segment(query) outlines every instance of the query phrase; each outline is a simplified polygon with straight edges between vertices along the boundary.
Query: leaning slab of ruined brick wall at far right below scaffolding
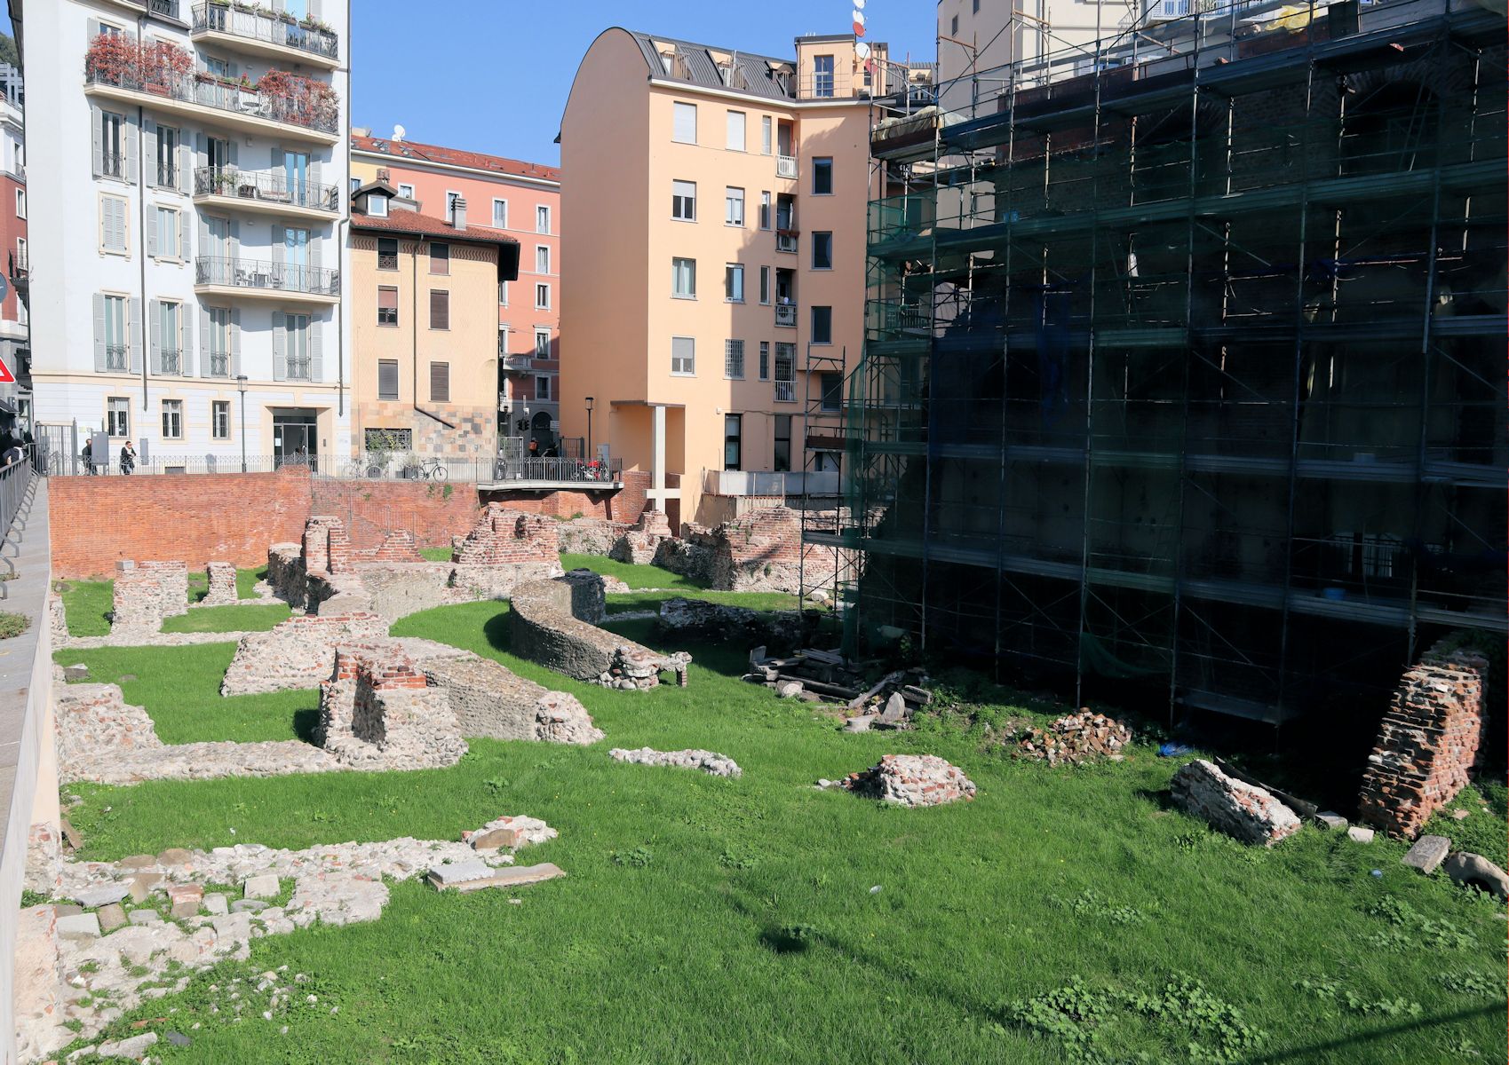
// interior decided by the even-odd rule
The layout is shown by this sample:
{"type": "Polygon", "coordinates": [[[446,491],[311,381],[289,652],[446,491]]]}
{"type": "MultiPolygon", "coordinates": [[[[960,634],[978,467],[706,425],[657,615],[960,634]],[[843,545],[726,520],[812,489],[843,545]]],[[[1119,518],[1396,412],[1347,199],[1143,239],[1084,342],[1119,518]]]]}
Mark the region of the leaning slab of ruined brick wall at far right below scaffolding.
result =
{"type": "Polygon", "coordinates": [[[1483,738],[1488,659],[1435,644],[1399,682],[1367,756],[1360,819],[1414,839],[1468,783],[1483,738]]]}

